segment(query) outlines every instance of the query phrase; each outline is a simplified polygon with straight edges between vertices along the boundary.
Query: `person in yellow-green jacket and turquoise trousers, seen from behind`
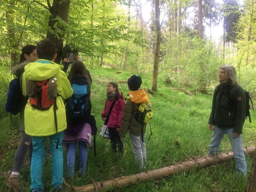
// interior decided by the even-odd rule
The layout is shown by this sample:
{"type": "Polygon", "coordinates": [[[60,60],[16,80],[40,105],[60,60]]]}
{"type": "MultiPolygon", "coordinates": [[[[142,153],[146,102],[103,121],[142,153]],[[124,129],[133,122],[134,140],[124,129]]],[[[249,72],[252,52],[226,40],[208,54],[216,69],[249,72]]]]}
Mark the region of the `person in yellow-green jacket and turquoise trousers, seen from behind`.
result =
{"type": "Polygon", "coordinates": [[[26,65],[22,84],[23,95],[29,95],[24,112],[25,132],[32,136],[33,145],[30,189],[32,192],[41,192],[46,137],[49,137],[52,155],[52,186],[60,190],[63,183],[62,137],[67,122],[62,99],[71,97],[73,90],[61,70],[62,66],[54,63],[57,56],[55,45],[49,39],[44,39],[38,42],[36,50],[39,59],[26,65]],[[42,82],[44,84],[40,85],[42,82]],[[44,97],[44,94],[50,94],[50,87],[54,85],[56,90],[52,92],[56,92],[53,94],[55,97],[49,100],[49,107],[45,108],[45,99],[50,97],[44,97]],[[35,87],[35,90],[31,88],[29,91],[30,87],[35,87]]]}

